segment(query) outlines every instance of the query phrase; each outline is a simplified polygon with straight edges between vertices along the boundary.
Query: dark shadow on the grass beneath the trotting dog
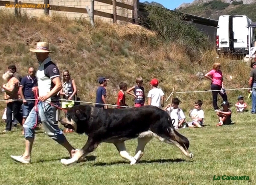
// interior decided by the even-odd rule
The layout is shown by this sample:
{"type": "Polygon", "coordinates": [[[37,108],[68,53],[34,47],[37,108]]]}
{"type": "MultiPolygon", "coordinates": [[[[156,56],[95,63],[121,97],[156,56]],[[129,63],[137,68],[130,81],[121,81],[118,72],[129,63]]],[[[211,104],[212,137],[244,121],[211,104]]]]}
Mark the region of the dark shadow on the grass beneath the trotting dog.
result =
{"type": "MultiPolygon", "coordinates": [[[[150,164],[150,163],[166,163],[166,162],[192,162],[192,161],[187,161],[184,159],[155,159],[155,160],[141,160],[138,163],[145,163],[145,164],[150,164]]],[[[92,166],[110,166],[110,165],[119,165],[119,164],[130,164],[128,161],[116,161],[116,162],[97,162],[96,164],[92,166]]]]}

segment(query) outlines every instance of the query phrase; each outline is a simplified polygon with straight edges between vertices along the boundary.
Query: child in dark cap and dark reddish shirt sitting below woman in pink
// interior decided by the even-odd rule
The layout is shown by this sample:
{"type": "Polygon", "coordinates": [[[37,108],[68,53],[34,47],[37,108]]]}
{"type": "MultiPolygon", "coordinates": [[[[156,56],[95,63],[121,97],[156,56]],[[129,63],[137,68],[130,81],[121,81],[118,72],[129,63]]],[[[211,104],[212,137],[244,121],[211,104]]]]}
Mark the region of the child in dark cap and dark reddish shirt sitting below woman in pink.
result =
{"type": "Polygon", "coordinates": [[[230,104],[227,101],[224,101],[221,106],[223,107],[223,110],[216,111],[216,114],[218,115],[219,122],[216,126],[222,126],[223,124],[231,124],[231,115],[232,112],[229,109],[230,104]]]}

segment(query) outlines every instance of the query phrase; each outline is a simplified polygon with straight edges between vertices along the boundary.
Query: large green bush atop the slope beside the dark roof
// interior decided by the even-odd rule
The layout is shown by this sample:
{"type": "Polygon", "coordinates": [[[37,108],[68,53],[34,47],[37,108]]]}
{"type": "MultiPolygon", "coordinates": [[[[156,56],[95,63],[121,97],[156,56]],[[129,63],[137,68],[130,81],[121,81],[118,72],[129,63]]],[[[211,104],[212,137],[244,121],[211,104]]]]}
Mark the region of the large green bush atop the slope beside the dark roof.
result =
{"type": "MultiPolygon", "coordinates": [[[[157,6],[145,6],[148,15],[143,19],[144,26],[156,32],[158,41],[162,43],[180,43],[189,53],[196,53],[207,46],[207,36],[192,23],[183,20],[179,12],[157,6]],[[147,25],[145,25],[145,23],[147,25]]],[[[156,44],[156,43],[154,43],[156,44]]],[[[193,56],[191,55],[193,58],[193,56]]]]}

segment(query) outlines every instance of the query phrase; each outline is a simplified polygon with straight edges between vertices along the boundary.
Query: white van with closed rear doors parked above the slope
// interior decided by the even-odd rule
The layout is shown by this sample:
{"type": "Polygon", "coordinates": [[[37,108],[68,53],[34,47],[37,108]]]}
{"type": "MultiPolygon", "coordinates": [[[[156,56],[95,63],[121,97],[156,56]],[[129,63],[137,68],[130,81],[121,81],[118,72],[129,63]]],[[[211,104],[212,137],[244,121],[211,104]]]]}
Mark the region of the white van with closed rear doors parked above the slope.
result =
{"type": "MultiPolygon", "coordinates": [[[[248,54],[248,25],[251,23],[252,21],[245,15],[221,15],[218,20],[216,34],[217,53],[248,54]]],[[[253,38],[254,36],[250,43],[254,43],[253,38]]]]}

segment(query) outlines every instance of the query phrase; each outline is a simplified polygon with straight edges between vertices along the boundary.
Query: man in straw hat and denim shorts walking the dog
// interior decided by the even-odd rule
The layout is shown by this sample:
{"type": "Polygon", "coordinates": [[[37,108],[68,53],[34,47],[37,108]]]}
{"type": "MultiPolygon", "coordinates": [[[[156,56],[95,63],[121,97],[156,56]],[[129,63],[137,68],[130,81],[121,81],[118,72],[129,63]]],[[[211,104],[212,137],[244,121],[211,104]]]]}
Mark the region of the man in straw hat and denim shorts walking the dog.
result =
{"type": "MultiPolygon", "coordinates": [[[[49,57],[49,44],[46,42],[38,42],[35,49],[29,49],[31,52],[36,53],[36,58],[39,62],[39,68],[36,73],[38,80],[38,116],[44,126],[47,135],[64,146],[70,156],[76,153],[76,149],[70,145],[64,136],[62,130],[58,127],[58,116],[56,115],[56,108],[52,107],[49,103],[60,106],[60,95],[57,93],[61,90],[61,77],[58,67],[51,61],[49,57]]],[[[35,124],[37,113],[35,107],[29,113],[23,128],[25,131],[26,148],[22,156],[11,156],[21,163],[30,163],[30,154],[32,145],[35,138],[35,124]]]]}

